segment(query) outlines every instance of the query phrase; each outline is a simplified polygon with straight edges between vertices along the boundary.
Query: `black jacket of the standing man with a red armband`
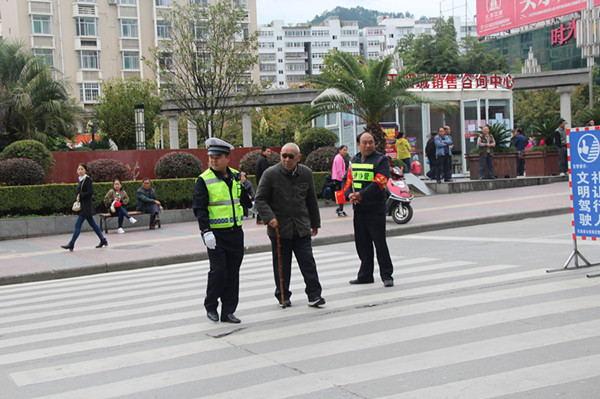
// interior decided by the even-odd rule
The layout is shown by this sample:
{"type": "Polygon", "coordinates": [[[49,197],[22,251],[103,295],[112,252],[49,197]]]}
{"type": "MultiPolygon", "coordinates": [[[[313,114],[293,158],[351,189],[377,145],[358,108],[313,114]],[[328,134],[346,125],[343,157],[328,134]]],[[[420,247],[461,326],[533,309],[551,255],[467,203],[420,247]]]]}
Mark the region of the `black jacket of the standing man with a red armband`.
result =
{"type": "MultiPolygon", "coordinates": [[[[360,152],[352,158],[352,163],[371,163],[373,164],[374,175],[381,174],[387,178],[390,177],[390,162],[388,158],[379,153],[374,152],[364,160],[360,152]]],[[[352,187],[346,191],[346,198],[352,193],[352,187]]],[[[358,213],[385,213],[386,192],[385,188],[381,189],[375,182],[371,182],[360,190],[361,202],[354,205],[354,212],[358,213]]]]}

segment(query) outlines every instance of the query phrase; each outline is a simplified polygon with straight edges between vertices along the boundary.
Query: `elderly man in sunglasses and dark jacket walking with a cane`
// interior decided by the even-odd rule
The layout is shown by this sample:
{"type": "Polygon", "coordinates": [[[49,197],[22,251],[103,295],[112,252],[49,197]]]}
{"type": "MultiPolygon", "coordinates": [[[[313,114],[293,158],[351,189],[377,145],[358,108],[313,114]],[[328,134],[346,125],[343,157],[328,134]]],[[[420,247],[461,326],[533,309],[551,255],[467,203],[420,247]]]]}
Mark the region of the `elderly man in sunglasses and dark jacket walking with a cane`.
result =
{"type": "Polygon", "coordinates": [[[268,224],[267,234],[273,251],[275,297],[282,307],[291,306],[290,274],[292,252],[306,284],[308,306],[325,304],[312,252],[311,236],[321,227],[319,205],[310,168],[298,164],[300,149],[288,143],[281,149],[281,162],[268,168],[258,185],[255,206],[260,218],[268,224]],[[277,268],[277,241],[275,229],[281,234],[281,257],[284,277],[284,301],[281,302],[277,268]]]}

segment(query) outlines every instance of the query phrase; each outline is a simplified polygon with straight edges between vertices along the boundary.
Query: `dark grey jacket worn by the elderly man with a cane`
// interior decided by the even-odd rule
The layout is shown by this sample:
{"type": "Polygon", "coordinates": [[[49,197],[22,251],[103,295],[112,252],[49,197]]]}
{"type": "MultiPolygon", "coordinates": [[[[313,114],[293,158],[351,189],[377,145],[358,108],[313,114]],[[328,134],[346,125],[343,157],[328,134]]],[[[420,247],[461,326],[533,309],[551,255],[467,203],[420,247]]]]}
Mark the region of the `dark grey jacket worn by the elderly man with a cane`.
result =
{"type": "MultiPolygon", "coordinates": [[[[255,206],[265,223],[277,218],[285,239],[307,237],[311,228],[321,227],[312,170],[304,165],[299,164],[294,172],[280,163],[267,169],[258,185],[255,206]]],[[[267,232],[275,236],[270,227],[267,232]]]]}

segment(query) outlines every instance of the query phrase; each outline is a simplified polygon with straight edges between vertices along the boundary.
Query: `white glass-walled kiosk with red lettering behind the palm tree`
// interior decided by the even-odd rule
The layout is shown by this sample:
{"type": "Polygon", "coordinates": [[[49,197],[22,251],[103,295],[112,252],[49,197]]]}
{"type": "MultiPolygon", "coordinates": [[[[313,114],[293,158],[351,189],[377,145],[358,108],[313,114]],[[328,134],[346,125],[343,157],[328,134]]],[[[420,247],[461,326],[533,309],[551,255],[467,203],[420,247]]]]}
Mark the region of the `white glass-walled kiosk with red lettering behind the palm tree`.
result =
{"type": "MultiPolygon", "coordinates": [[[[382,124],[404,132],[413,147],[413,154],[424,165],[425,145],[432,133],[442,126],[451,129],[453,174],[465,175],[468,166],[465,154],[476,146],[477,132],[486,123],[502,123],[513,127],[512,77],[510,75],[437,75],[431,82],[410,89],[425,101],[397,107],[384,116],[382,124]]],[[[338,113],[319,117],[315,126],[325,127],[338,135],[338,144],[357,152],[355,137],[364,130],[364,123],[351,114],[338,113]]]]}

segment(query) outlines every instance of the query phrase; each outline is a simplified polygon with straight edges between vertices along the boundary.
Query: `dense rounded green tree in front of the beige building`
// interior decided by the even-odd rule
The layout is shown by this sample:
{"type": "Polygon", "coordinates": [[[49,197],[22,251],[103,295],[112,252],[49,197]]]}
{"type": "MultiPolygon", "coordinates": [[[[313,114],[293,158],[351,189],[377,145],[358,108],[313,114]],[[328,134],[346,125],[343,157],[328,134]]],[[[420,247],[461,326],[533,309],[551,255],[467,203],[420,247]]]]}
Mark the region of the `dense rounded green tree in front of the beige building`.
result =
{"type": "Polygon", "coordinates": [[[146,142],[154,134],[154,121],[162,100],[151,80],[111,79],[102,84],[102,96],[96,106],[100,130],[120,149],[135,148],[135,106],[144,104],[146,142]]]}

